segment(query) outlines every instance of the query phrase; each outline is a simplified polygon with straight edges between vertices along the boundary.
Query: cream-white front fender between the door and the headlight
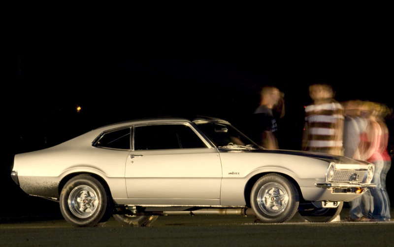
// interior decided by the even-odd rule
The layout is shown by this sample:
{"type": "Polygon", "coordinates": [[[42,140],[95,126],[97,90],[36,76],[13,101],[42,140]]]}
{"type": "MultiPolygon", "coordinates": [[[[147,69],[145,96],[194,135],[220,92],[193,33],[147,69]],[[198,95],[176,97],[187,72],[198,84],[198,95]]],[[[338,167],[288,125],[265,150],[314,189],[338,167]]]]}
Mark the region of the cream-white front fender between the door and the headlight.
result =
{"type": "Polygon", "coordinates": [[[328,161],[293,154],[263,152],[220,153],[223,179],[221,205],[246,205],[245,189],[256,175],[279,173],[292,177],[302,191],[325,181],[328,161]],[[311,167],[313,169],[311,169],[311,167]]]}

